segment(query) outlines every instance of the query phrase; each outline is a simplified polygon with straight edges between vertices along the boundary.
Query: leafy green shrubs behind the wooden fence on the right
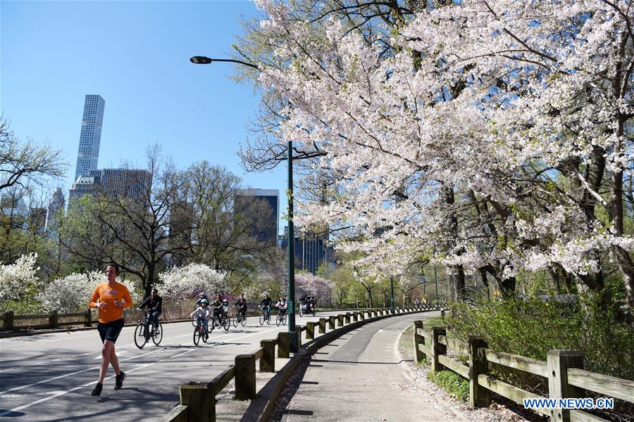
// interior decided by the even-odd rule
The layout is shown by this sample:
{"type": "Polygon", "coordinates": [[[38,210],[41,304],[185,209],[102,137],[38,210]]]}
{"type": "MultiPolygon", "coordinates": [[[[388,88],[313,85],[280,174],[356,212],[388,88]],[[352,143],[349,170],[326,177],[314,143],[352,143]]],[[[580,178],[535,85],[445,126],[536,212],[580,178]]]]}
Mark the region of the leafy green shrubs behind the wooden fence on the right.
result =
{"type": "MultiPolygon", "coordinates": [[[[539,298],[490,300],[472,298],[452,305],[447,327],[467,340],[484,337],[500,352],[546,360],[551,349],[583,352],[589,371],[634,379],[634,324],[619,316],[613,295],[581,295],[574,304],[539,298]]],[[[541,377],[491,365],[492,373],[526,390],[547,392],[541,377]]]]}

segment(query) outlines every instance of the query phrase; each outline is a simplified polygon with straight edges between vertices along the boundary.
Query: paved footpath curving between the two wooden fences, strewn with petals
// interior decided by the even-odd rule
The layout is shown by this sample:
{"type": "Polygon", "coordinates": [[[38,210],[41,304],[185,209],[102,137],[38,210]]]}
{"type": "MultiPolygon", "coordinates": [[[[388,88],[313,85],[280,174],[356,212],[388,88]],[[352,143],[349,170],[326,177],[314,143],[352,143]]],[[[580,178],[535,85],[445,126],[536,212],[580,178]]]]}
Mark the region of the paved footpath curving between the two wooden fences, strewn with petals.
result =
{"type": "Polygon", "coordinates": [[[323,347],[310,362],[300,366],[295,376],[299,388],[281,410],[281,420],[448,422],[464,419],[459,412],[430,404],[399,364],[400,333],[412,321],[435,314],[394,316],[376,321],[323,347]]]}

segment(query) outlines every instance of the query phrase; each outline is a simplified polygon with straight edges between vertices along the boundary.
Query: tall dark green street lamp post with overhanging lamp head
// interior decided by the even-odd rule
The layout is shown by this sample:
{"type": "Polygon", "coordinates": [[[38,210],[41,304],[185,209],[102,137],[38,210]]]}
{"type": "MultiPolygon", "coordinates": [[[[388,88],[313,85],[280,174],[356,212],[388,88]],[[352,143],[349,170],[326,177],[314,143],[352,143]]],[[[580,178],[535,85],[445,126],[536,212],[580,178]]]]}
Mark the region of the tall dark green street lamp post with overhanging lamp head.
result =
{"type": "MultiPolygon", "coordinates": [[[[194,56],[189,58],[189,61],[195,65],[209,65],[213,62],[230,62],[238,63],[239,65],[248,66],[260,70],[260,68],[253,63],[248,63],[242,60],[233,60],[230,58],[209,58],[206,56],[194,56]]],[[[299,338],[298,333],[295,331],[295,265],[294,265],[294,231],[293,231],[293,154],[292,141],[288,141],[288,337],[289,347],[291,352],[299,352],[299,338]]]]}

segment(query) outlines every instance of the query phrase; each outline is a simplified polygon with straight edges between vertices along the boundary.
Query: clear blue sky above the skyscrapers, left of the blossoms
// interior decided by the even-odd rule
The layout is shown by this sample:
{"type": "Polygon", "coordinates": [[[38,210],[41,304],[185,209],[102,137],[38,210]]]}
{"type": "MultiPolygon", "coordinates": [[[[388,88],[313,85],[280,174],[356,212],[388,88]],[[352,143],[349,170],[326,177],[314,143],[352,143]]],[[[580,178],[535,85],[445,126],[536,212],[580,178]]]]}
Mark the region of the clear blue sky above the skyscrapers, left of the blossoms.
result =
{"type": "MultiPolygon", "coordinates": [[[[106,101],[99,167],[144,166],[149,143],[179,167],[208,160],[252,188],[279,189],[286,169],[245,174],[236,155],[259,98],[225,58],[259,15],[251,1],[0,1],[0,111],[20,139],[61,148],[75,174],[86,94],[106,101]]],[[[280,221],[280,229],[284,225],[280,221]]]]}

